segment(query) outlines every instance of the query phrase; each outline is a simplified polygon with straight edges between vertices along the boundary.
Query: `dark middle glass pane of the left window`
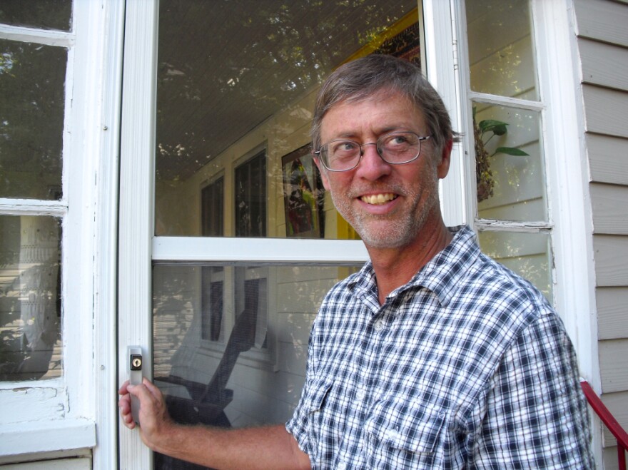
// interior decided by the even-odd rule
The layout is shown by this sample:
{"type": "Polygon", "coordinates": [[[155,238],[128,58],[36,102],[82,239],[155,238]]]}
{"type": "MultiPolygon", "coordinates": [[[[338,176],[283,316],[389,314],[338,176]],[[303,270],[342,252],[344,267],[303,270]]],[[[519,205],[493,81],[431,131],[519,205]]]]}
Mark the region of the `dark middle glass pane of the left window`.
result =
{"type": "Polygon", "coordinates": [[[0,39],[0,198],[61,198],[67,55],[0,39]]]}

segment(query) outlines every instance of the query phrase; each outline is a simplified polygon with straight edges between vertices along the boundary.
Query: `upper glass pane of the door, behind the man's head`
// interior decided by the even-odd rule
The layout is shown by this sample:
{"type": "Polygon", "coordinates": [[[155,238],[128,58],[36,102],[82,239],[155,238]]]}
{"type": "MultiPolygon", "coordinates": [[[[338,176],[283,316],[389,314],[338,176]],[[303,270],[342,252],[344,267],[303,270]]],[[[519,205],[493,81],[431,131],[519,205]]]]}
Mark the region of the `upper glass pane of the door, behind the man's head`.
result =
{"type": "Polygon", "coordinates": [[[156,235],[357,238],[323,193],[309,127],[321,81],[372,52],[420,63],[416,0],[161,1],[156,235]],[[247,169],[261,180],[244,175],[262,151],[247,169]],[[199,218],[218,175],[220,233],[199,218]]]}

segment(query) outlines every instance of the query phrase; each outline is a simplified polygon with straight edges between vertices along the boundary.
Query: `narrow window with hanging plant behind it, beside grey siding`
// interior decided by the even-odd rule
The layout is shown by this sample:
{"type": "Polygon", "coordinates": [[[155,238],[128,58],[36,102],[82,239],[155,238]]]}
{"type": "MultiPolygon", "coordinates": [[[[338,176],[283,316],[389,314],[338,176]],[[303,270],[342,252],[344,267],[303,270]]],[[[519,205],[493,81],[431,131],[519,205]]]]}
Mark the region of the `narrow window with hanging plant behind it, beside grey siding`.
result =
{"type": "Polygon", "coordinates": [[[467,0],[465,6],[480,246],[553,301],[545,104],[530,4],[467,0]]]}

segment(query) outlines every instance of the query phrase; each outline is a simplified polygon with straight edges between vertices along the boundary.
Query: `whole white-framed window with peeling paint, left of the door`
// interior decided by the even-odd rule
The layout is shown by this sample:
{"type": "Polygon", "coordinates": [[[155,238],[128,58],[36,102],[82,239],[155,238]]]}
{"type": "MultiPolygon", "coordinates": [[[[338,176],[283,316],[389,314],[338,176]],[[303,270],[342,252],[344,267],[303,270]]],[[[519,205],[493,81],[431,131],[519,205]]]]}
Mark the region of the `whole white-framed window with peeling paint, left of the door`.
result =
{"type": "Polygon", "coordinates": [[[103,57],[121,44],[104,33],[119,19],[70,0],[0,5],[0,434],[15,439],[0,442],[16,460],[96,445],[95,246],[111,242],[96,206],[116,194],[98,193],[116,116],[103,110],[103,57]]]}

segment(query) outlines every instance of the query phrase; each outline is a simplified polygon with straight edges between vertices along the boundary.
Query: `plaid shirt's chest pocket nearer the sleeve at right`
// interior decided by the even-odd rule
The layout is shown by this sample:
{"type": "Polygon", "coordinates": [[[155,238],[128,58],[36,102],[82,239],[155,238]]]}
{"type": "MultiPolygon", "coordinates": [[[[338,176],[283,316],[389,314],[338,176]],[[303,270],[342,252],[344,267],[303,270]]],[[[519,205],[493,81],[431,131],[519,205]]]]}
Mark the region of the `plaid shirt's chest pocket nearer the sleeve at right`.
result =
{"type": "Polygon", "coordinates": [[[385,399],[375,404],[365,424],[370,453],[390,448],[414,454],[432,454],[440,440],[445,412],[431,404],[385,399]]]}

